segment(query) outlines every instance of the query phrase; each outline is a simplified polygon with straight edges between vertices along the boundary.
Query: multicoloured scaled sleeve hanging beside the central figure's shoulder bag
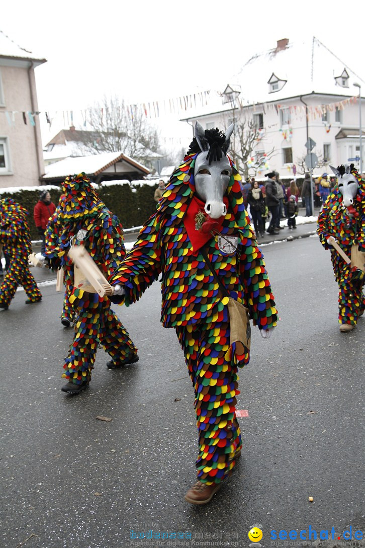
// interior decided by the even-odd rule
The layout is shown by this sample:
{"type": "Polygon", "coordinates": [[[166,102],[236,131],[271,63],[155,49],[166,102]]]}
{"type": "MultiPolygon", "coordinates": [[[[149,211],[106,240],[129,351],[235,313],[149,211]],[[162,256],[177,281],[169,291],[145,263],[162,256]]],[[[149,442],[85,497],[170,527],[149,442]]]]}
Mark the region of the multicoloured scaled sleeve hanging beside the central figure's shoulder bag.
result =
{"type": "Polygon", "coordinates": [[[259,329],[269,329],[275,327],[277,322],[274,295],[271,293],[263,255],[257,247],[257,241],[253,238],[251,229],[249,230],[251,237],[244,237],[242,240],[240,275],[253,325],[258,326],[259,329]]]}

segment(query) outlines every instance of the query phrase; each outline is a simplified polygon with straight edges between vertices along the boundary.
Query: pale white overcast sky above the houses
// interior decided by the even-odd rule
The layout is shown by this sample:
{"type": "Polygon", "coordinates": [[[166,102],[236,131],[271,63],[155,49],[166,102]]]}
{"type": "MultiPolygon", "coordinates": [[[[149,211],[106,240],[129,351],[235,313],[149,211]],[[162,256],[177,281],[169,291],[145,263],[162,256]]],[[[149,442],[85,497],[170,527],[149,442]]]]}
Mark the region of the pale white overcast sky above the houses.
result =
{"type": "Polygon", "coordinates": [[[61,111],[103,94],[146,102],[223,91],[281,38],[316,36],[365,80],[364,16],[364,0],[8,0],[0,29],[48,60],[36,68],[38,107],[61,111]]]}

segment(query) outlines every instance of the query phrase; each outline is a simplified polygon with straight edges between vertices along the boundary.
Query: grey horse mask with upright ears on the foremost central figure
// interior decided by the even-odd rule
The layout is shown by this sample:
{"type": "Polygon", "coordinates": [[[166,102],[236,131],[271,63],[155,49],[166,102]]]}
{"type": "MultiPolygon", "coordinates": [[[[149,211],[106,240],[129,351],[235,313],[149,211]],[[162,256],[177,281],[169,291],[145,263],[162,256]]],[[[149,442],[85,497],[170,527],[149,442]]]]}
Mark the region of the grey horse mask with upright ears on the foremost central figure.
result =
{"type": "Polygon", "coordinates": [[[223,196],[229,184],[232,168],[225,153],[233,130],[234,124],[231,124],[224,132],[224,144],[218,146],[218,153],[212,154],[211,147],[205,138],[204,128],[199,122],[195,123],[195,138],[201,150],[195,158],[195,189],[199,198],[205,201],[204,210],[211,219],[219,219],[227,213],[223,196]]]}

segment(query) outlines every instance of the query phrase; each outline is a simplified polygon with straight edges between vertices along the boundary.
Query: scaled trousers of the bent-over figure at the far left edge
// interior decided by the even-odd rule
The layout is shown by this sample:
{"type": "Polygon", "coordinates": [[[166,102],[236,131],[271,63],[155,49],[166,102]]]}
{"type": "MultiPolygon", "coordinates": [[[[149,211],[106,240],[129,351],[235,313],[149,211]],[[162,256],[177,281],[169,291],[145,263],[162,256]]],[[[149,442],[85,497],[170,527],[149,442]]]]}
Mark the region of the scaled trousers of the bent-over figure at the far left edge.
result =
{"type": "Polygon", "coordinates": [[[19,285],[23,287],[31,301],[36,302],[42,299],[42,293],[29,270],[28,253],[20,247],[13,250],[5,248],[5,251],[10,255],[10,264],[0,286],[0,303],[9,306],[19,285]]]}

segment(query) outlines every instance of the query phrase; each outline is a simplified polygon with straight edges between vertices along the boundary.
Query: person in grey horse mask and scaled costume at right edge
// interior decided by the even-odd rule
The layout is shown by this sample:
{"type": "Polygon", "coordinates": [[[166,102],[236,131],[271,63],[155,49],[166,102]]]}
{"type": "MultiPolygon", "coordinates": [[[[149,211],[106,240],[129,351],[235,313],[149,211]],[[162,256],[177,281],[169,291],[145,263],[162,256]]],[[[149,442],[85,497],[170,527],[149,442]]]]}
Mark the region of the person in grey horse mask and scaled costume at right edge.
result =
{"type": "Polygon", "coordinates": [[[333,168],[338,182],[318,215],[317,232],[325,249],[331,249],[333,272],[339,288],[340,331],[352,331],[365,310],[363,287],[365,283],[365,180],[358,174],[354,164],[333,168]],[[328,242],[334,237],[347,257],[346,262],[328,242]],[[362,268],[361,268],[362,265],[362,268]]]}

